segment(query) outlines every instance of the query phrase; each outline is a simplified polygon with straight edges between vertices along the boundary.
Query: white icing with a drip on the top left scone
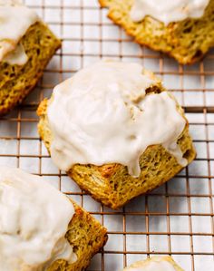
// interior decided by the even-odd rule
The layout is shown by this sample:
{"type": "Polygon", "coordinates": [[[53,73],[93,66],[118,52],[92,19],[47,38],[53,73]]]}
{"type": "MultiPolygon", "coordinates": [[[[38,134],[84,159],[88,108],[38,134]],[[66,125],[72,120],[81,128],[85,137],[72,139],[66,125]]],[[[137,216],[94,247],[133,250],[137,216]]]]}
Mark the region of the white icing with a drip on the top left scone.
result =
{"type": "Polygon", "coordinates": [[[28,28],[36,21],[38,15],[33,10],[16,4],[16,1],[0,0],[0,62],[7,62],[9,57],[8,63],[26,63],[26,54],[24,50],[20,50],[22,44],[18,48],[17,45],[28,28]]]}

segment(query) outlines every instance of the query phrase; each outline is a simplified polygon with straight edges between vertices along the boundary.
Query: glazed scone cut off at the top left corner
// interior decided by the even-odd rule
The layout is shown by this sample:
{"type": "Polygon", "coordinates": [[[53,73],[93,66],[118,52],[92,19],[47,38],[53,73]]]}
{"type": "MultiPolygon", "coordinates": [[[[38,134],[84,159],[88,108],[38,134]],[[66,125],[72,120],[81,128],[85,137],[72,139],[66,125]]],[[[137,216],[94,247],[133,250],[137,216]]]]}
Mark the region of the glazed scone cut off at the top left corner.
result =
{"type": "Polygon", "coordinates": [[[61,41],[33,10],[0,1],[0,115],[34,88],[61,41]]]}

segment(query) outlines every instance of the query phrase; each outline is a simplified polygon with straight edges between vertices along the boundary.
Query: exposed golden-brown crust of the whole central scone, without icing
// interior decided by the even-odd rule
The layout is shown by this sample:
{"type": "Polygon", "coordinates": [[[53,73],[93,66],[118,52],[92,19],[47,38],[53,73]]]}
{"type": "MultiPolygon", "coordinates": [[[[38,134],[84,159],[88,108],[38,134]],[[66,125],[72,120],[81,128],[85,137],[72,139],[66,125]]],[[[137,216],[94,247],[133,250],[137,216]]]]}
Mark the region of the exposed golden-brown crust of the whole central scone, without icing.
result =
{"type": "MultiPolygon", "coordinates": [[[[163,91],[157,86],[153,86],[153,90],[155,92],[163,91]]],[[[152,88],[148,92],[152,92],[152,88]]],[[[48,101],[45,100],[38,108],[37,112],[40,116],[38,131],[47,150],[50,151],[53,135],[46,117],[47,106],[48,101]]],[[[178,109],[183,113],[179,105],[178,109]]],[[[188,124],[180,135],[178,144],[188,163],[195,159],[196,151],[190,138],[188,124]]],[[[141,155],[140,166],[141,176],[139,178],[131,177],[126,167],[115,163],[103,166],[77,164],[67,174],[81,189],[92,195],[92,198],[102,202],[105,206],[116,209],[122,207],[131,198],[160,186],[183,169],[161,145],[148,147],[141,155]]]]}

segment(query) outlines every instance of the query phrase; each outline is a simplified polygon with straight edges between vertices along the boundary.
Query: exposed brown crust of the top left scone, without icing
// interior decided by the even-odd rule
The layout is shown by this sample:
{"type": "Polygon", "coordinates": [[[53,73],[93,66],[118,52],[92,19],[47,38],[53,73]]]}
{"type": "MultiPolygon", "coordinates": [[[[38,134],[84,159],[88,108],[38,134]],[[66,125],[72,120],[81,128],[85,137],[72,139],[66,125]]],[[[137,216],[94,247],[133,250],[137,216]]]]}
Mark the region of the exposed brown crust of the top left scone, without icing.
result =
{"type": "Polygon", "coordinates": [[[28,56],[27,63],[22,66],[0,63],[0,115],[24,100],[61,47],[61,41],[42,22],[32,25],[20,42],[28,56]]]}

